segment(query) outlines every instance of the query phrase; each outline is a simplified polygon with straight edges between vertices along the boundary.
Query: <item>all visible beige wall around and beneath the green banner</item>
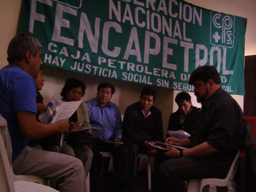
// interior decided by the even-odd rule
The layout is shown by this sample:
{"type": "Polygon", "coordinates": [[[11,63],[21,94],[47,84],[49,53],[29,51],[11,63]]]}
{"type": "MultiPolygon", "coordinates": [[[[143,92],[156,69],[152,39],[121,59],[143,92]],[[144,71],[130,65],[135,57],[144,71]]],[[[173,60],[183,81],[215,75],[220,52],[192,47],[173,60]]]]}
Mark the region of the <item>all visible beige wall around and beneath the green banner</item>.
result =
{"type": "MultiPolygon", "coordinates": [[[[7,65],[7,46],[16,33],[20,13],[21,0],[0,0],[0,68],[7,65]]],[[[241,16],[248,19],[245,35],[245,55],[256,54],[256,0],[187,0],[194,5],[208,8],[214,11],[241,16]]],[[[47,103],[53,93],[60,93],[66,78],[76,77],[87,84],[86,94],[83,100],[91,99],[96,95],[96,87],[100,82],[107,81],[115,85],[116,93],[112,101],[120,107],[121,114],[125,112],[128,105],[139,99],[141,89],[145,85],[130,82],[104,79],[101,77],[89,76],[81,73],[69,72],[51,66],[44,66],[43,74],[46,79],[42,90],[45,102],[47,103]]],[[[158,97],[155,106],[161,109],[163,126],[166,131],[170,113],[177,110],[174,97],[178,91],[155,87],[158,97]]],[[[195,96],[191,93],[194,106],[201,106],[196,102],[195,96]]],[[[243,109],[243,96],[234,96],[243,109]]]]}

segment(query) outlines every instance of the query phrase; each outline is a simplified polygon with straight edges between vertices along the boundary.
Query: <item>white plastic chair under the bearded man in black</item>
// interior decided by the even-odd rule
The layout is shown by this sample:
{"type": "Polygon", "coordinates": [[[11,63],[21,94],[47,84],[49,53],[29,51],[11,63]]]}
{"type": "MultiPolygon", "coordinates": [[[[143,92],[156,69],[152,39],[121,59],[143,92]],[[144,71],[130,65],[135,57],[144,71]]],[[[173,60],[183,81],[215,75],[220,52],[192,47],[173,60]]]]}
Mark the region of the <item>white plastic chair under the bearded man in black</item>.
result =
{"type": "Polygon", "coordinates": [[[236,154],[235,159],[229,169],[228,175],[225,179],[207,178],[207,179],[191,179],[189,180],[188,192],[202,192],[205,185],[226,186],[238,192],[236,182],[233,180],[239,165],[239,153],[236,154]]]}

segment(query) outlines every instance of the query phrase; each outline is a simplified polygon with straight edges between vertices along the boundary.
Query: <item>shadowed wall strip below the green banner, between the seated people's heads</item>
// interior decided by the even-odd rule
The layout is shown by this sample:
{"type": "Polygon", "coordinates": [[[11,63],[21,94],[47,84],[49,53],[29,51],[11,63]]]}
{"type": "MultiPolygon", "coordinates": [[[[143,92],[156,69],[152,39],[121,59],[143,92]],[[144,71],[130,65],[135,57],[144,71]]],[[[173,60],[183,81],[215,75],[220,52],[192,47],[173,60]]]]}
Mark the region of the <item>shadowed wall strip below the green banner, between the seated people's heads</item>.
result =
{"type": "MultiPolygon", "coordinates": [[[[112,96],[111,101],[117,104],[120,108],[121,114],[124,114],[126,107],[138,101],[141,94],[141,89],[146,87],[145,85],[137,83],[94,77],[81,73],[70,72],[63,69],[54,69],[55,68],[51,66],[43,66],[43,76],[46,80],[41,94],[43,95],[45,102],[49,101],[53,93],[61,92],[61,89],[65,83],[65,79],[67,78],[76,77],[87,84],[85,96],[82,98],[84,101],[94,98],[96,96],[98,84],[106,81],[112,83],[115,86],[116,91],[112,96]]],[[[172,113],[173,107],[173,90],[164,89],[161,87],[155,87],[155,90],[158,93],[155,106],[161,109],[164,127],[167,129],[168,118],[170,113],[172,113]]]]}

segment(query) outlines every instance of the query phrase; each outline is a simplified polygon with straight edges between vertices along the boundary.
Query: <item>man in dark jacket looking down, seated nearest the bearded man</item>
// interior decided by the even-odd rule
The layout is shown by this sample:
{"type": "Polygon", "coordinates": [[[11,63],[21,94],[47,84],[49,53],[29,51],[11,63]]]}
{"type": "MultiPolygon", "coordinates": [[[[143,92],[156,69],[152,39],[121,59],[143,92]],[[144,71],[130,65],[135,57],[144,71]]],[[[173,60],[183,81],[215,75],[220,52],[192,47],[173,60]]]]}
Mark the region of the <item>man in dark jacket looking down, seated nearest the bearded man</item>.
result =
{"type": "Polygon", "coordinates": [[[170,115],[168,131],[183,130],[192,135],[195,129],[195,119],[201,108],[192,106],[191,97],[187,92],[178,93],[175,102],[179,109],[170,115]]]}

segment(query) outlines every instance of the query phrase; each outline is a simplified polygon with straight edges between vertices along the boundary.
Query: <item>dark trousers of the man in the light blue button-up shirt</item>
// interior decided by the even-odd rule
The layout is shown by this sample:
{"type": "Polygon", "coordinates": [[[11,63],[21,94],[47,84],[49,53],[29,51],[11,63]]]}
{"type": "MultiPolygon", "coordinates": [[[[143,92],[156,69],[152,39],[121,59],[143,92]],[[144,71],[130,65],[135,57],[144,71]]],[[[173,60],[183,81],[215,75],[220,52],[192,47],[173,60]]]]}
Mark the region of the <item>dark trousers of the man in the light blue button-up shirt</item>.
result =
{"type": "Polygon", "coordinates": [[[94,142],[91,144],[94,153],[90,178],[92,186],[100,186],[101,172],[103,168],[103,157],[101,152],[113,153],[113,185],[123,185],[128,182],[128,148],[124,145],[115,146],[94,142]]]}

